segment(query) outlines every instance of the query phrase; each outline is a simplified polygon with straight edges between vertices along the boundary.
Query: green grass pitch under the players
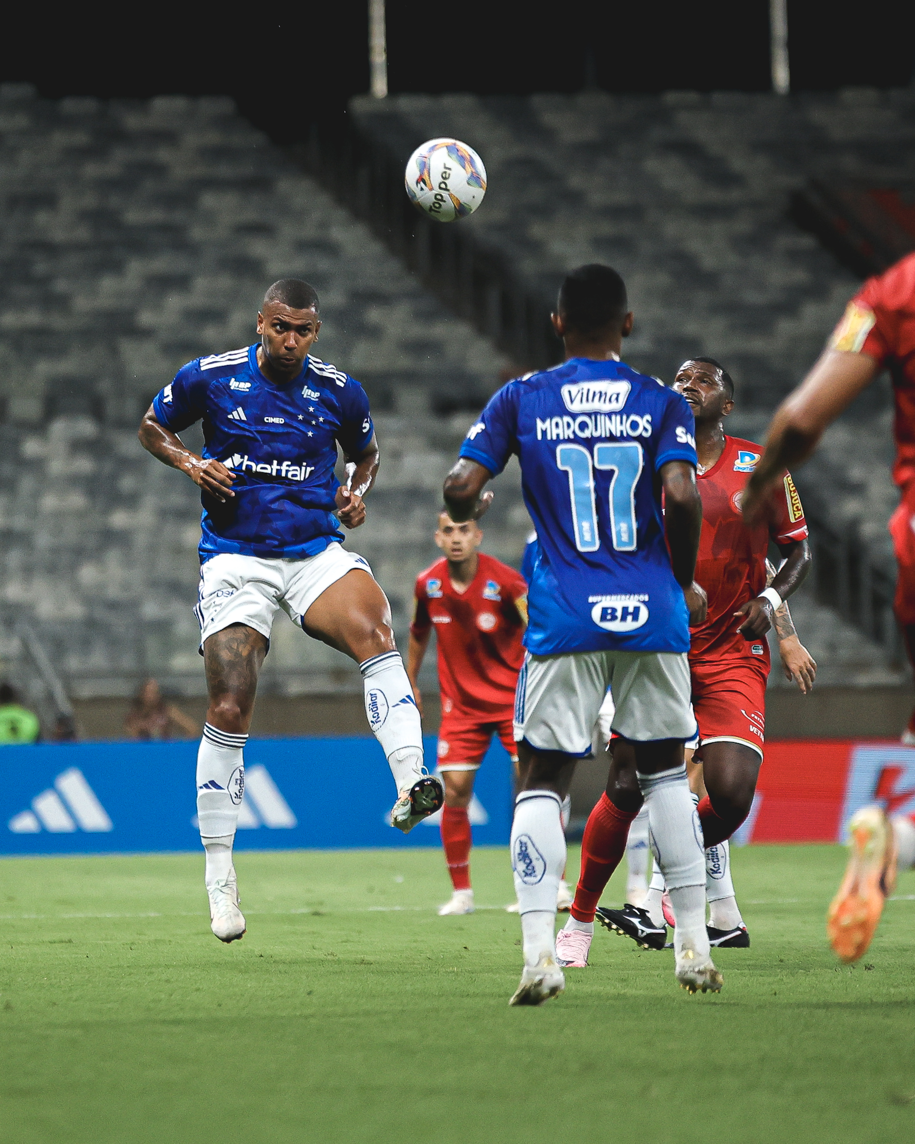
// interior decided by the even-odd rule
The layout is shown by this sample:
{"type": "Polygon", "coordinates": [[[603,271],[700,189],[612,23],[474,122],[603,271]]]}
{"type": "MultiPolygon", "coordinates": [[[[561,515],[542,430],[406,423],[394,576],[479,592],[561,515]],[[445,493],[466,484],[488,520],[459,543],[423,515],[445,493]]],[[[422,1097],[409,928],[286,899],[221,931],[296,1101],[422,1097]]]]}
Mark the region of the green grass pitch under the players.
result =
{"type": "MultiPolygon", "coordinates": [[[[518,920],[436,916],[435,850],[241,853],[230,946],[201,856],[5,859],[0,1141],[901,1144],[915,875],[849,969],[824,936],[843,867],[837,847],[735,851],[753,946],[716,959],[719,996],[599,931],[564,995],[509,1009],[518,920]]],[[[504,851],[474,874],[480,905],[511,899],[504,851]]]]}

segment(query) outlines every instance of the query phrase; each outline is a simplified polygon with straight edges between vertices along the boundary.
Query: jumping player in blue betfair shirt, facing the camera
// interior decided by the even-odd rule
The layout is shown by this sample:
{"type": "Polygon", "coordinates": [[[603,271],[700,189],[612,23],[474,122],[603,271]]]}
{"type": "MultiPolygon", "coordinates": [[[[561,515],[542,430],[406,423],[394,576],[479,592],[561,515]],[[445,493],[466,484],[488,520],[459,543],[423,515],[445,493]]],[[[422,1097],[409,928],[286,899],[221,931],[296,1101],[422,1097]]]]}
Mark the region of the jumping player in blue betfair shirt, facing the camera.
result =
{"type": "Polygon", "coordinates": [[[368,723],[397,784],[392,825],[407,833],[445,801],[441,781],[423,768],[420,714],[388,599],[363,557],[341,545],[339,524],[356,529],[366,518],[379,447],[363,387],[310,353],[318,315],[308,283],[274,283],[257,315],[260,343],[183,366],[140,427],[143,447],[198,484],[204,506],[194,612],[209,706],[197,813],[212,929],[223,942],[245,932],[232,843],[242,748],[278,609],[359,665],[368,723]],[[177,434],[200,420],[198,456],[177,434]],[[337,445],[344,485],[334,475],[337,445]]]}

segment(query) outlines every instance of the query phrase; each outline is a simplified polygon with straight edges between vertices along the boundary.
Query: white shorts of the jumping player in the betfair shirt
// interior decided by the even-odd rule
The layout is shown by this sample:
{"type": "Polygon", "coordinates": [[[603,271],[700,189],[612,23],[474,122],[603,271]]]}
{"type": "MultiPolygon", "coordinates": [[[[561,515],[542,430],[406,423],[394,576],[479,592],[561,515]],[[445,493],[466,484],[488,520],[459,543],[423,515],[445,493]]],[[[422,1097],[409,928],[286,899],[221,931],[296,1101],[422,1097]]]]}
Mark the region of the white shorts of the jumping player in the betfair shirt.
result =
{"type": "Polygon", "coordinates": [[[334,541],[317,556],[271,559],[220,553],[200,566],[200,588],[193,613],[200,625],[200,646],[230,623],[247,623],[270,638],[278,609],[293,623],[320,594],[353,569],[372,575],[368,562],[334,541]]]}

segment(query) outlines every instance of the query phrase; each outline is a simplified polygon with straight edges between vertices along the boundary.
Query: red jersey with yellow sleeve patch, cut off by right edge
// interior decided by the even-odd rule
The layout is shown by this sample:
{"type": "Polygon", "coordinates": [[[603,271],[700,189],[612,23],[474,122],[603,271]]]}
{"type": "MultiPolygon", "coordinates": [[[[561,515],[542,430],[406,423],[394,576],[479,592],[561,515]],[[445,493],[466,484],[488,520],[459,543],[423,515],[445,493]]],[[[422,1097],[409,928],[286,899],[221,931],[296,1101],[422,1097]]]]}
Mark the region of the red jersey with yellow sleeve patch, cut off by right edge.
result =
{"type": "Polygon", "coordinates": [[[829,345],[868,353],[890,370],[896,402],[893,480],[915,479],[915,254],[868,278],[849,302],[829,345]]]}

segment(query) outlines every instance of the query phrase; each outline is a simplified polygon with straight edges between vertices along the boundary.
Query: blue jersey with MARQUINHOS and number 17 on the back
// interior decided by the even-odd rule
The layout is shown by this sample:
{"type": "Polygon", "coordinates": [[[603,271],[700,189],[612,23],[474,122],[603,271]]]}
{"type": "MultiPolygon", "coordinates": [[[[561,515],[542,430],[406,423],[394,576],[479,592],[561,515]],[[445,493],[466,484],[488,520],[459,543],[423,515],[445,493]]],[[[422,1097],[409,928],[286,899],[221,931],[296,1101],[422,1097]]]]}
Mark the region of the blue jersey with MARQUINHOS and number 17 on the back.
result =
{"type": "Polygon", "coordinates": [[[572,358],[503,386],[461,456],[493,475],[512,453],[536,529],[525,644],[535,656],[690,648],[657,472],[695,464],[690,406],[619,362],[572,358]]]}

